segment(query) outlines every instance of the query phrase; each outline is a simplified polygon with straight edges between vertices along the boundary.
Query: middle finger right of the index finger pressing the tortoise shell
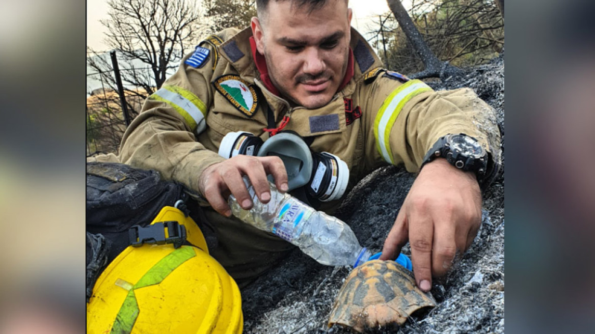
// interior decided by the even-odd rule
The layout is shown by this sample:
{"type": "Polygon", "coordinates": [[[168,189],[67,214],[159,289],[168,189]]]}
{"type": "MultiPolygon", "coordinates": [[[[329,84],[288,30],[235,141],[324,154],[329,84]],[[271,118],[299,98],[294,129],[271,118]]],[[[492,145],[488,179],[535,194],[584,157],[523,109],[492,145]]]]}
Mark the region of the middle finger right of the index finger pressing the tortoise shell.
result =
{"type": "MultiPolygon", "coordinates": [[[[452,221],[442,221],[434,225],[434,246],[432,249],[432,273],[443,276],[455,260],[457,251],[456,225],[452,221]]],[[[461,231],[466,236],[466,232],[461,231]]],[[[465,244],[460,245],[461,250],[465,244]]]]}

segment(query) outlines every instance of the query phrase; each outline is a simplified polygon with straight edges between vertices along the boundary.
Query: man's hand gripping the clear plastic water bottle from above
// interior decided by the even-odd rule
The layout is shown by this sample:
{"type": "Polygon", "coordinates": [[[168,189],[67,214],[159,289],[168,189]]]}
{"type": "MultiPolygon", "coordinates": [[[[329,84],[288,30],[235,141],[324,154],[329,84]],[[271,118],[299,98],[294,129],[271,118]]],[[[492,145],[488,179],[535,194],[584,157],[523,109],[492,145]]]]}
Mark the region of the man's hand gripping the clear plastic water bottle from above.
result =
{"type": "Polygon", "coordinates": [[[199,191],[209,204],[221,215],[231,216],[227,197],[233,194],[240,206],[249,210],[252,200],[242,180],[247,175],[254,186],[256,196],[262,203],[271,200],[271,188],[267,174],[273,175],[280,191],[287,191],[287,172],[283,161],[277,156],[257,157],[237,155],[223,162],[208,166],[199,177],[199,191]]]}

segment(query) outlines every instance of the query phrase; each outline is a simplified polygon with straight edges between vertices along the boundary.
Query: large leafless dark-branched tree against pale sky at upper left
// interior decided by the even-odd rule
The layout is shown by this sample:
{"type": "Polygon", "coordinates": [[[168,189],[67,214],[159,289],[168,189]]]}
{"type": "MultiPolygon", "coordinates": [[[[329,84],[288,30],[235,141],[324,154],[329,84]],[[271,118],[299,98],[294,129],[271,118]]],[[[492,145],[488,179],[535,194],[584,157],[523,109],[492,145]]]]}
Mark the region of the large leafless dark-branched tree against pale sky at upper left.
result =
{"type": "MultiPolygon", "coordinates": [[[[122,62],[121,77],[131,96],[146,97],[161,87],[168,70],[189,52],[204,29],[192,0],[109,0],[105,43],[122,62]]],[[[109,57],[98,57],[87,48],[87,65],[105,73],[104,81],[115,89],[109,57]],[[89,56],[92,55],[92,56],[89,56]]]]}

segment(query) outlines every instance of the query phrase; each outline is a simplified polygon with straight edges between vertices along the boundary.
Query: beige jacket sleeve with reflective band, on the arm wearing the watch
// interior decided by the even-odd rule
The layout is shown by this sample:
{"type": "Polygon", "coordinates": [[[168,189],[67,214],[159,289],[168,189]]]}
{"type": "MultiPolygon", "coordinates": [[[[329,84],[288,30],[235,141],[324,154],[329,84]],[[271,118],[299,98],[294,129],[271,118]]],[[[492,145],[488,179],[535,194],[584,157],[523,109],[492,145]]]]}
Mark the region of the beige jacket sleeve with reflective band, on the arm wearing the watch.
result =
{"type": "Polygon", "coordinates": [[[378,77],[368,84],[365,128],[367,157],[375,166],[405,165],[417,172],[425,154],[446,134],[475,137],[490,155],[493,170],[500,161],[500,133],[493,108],[472,89],[434,92],[420,80],[405,83],[378,77]]]}

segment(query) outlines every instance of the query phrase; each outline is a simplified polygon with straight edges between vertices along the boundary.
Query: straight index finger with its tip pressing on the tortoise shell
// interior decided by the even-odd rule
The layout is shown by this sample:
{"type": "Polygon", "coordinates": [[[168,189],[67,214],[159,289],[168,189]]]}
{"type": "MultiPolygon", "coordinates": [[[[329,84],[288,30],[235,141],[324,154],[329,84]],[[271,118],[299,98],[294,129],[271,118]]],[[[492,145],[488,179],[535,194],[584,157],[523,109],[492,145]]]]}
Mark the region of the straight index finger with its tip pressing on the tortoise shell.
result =
{"type": "Polygon", "coordinates": [[[433,222],[428,215],[415,215],[408,219],[411,262],[417,286],[424,292],[432,288],[433,222]]]}

